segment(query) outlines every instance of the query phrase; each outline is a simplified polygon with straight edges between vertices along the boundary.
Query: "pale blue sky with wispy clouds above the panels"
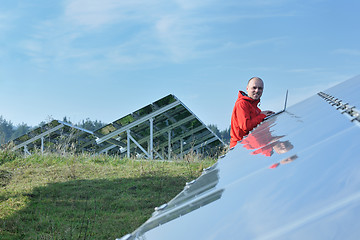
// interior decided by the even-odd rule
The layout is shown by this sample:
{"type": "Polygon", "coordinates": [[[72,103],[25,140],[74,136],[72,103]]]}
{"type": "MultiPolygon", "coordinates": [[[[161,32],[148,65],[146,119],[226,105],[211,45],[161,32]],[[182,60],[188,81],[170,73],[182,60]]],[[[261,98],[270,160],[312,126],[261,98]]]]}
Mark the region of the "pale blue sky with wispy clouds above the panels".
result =
{"type": "Polygon", "coordinates": [[[278,111],[360,74],[360,2],[1,0],[0,115],[112,122],[169,93],[230,125],[259,76],[278,111]]]}

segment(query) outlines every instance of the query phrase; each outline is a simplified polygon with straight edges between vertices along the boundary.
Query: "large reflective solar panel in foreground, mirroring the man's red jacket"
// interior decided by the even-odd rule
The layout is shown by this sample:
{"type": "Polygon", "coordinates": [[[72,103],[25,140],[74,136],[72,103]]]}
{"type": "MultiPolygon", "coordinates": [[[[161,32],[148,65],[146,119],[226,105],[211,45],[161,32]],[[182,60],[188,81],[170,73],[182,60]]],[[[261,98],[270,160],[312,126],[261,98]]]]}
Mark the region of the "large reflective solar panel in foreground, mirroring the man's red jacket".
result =
{"type": "Polygon", "coordinates": [[[360,76],[262,122],[121,240],[359,239],[359,92],[360,76]]]}

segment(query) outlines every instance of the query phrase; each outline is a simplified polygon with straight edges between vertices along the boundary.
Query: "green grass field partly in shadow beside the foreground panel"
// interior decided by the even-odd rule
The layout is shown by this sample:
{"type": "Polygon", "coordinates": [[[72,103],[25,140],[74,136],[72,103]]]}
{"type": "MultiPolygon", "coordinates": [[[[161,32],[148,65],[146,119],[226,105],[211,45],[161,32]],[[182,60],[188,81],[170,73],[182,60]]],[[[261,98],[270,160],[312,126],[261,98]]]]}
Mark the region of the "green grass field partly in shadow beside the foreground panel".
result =
{"type": "Polygon", "coordinates": [[[215,160],[0,152],[0,239],[115,239],[215,160]]]}

